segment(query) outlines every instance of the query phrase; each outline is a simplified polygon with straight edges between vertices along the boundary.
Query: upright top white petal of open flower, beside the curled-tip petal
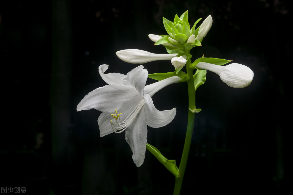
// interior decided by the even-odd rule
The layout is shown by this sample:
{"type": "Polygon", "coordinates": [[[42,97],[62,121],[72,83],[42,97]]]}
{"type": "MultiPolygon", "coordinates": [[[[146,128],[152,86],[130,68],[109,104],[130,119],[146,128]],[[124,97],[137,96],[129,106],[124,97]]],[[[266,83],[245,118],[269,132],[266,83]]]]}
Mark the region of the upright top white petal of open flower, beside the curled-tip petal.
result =
{"type": "Polygon", "coordinates": [[[124,85],[132,85],[143,97],[144,85],[147,82],[148,71],[143,66],[138,66],[129,71],[123,78],[124,85]]]}

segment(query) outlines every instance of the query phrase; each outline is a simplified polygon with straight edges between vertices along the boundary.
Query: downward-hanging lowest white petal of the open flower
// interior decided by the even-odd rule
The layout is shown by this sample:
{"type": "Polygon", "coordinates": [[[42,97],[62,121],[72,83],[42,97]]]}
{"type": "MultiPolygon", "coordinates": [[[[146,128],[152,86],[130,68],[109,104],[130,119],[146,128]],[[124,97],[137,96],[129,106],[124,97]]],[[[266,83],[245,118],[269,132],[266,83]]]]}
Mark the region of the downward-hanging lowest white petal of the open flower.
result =
{"type": "Polygon", "coordinates": [[[132,160],[137,167],[144,162],[147,147],[147,123],[144,112],[139,112],[136,119],[125,130],[125,140],[132,151],[132,160]]]}

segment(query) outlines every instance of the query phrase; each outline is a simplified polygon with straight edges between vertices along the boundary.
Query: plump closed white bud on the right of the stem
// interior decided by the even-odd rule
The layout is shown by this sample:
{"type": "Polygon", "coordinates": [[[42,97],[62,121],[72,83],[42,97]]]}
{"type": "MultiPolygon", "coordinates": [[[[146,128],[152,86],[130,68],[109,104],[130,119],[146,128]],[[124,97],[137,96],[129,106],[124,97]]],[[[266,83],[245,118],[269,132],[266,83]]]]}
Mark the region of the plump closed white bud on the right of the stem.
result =
{"type": "Polygon", "coordinates": [[[254,76],[253,71],[242,64],[229,64],[227,66],[219,66],[200,62],[196,65],[199,69],[207,69],[218,74],[221,80],[230,87],[243,88],[248,86],[254,76]]]}

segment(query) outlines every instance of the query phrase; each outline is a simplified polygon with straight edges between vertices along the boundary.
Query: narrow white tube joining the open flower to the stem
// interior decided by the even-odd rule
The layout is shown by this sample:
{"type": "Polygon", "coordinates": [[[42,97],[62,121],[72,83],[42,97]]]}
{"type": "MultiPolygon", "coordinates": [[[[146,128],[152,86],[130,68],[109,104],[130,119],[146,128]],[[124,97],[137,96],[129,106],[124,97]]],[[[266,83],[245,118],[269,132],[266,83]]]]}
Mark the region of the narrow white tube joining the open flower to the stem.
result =
{"type": "Polygon", "coordinates": [[[158,81],[156,83],[150,84],[150,85],[146,85],[144,87],[144,94],[149,94],[150,96],[153,96],[155,93],[157,93],[157,91],[159,91],[160,89],[172,84],[172,83],[177,83],[178,81],[180,81],[180,77],[179,76],[172,76],[169,78],[165,78],[161,81],[158,81]]]}

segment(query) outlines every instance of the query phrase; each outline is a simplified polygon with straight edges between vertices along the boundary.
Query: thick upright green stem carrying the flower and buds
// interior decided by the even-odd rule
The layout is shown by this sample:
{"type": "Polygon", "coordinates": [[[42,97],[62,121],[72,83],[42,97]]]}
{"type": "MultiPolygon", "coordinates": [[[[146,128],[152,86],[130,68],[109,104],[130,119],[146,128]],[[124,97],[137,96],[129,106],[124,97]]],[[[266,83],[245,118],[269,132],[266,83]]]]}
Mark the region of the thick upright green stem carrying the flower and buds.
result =
{"type": "Polygon", "coordinates": [[[193,126],[194,126],[194,118],[195,118],[195,88],[194,88],[194,80],[193,80],[193,69],[191,68],[191,61],[190,59],[186,63],[186,72],[189,76],[189,80],[187,81],[188,86],[188,99],[189,99],[189,110],[188,110],[188,123],[187,123],[187,130],[186,130],[186,136],[185,136],[185,142],[184,142],[184,148],[183,153],[180,161],[179,166],[179,177],[175,179],[175,187],[173,195],[179,195],[182,182],[183,182],[183,176],[187,164],[187,159],[189,155],[189,149],[191,144],[191,138],[193,133],[193,126]]]}

